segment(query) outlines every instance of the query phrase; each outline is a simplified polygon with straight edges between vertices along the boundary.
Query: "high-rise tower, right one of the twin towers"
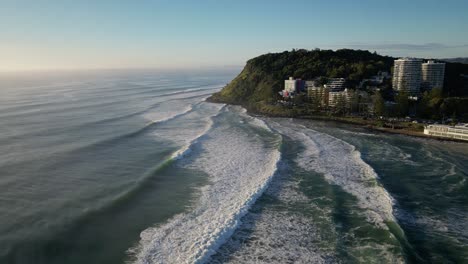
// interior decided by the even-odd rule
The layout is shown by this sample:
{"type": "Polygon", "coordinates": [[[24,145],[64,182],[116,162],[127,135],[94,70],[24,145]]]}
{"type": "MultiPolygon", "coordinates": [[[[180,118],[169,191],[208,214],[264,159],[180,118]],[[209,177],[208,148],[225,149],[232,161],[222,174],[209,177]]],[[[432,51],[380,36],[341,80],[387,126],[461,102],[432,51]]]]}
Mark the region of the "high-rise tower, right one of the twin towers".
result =
{"type": "Polygon", "coordinates": [[[444,87],[445,63],[432,60],[421,67],[421,89],[431,90],[444,87]]]}

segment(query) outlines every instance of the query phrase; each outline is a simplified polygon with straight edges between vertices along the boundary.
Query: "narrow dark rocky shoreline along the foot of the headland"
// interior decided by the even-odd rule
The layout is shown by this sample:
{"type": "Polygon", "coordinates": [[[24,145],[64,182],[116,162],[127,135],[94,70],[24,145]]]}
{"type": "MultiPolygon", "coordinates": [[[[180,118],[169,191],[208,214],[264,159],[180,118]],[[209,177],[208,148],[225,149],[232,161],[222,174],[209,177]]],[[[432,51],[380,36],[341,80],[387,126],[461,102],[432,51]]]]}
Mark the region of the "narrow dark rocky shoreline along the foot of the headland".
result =
{"type": "MultiPolygon", "coordinates": [[[[252,106],[244,105],[241,103],[235,103],[235,102],[225,102],[223,100],[213,98],[213,96],[208,97],[206,101],[211,102],[211,103],[239,105],[239,106],[244,107],[247,110],[248,114],[252,116],[256,116],[256,117],[283,117],[283,118],[317,120],[317,121],[325,121],[325,122],[337,122],[337,123],[342,123],[342,124],[350,124],[353,126],[358,126],[361,128],[365,128],[369,131],[375,131],[375,132],[380,132],[380,133],[399,134],[399,135],[404,135],[404,136],[409,136],[409,137],[417,137],[417,138],[424,138],[424,139],[437,140],[437,141],[468,143],[468,141],[465,141],[465,140],[426,135],[423,133],[423,131],[417,131],[415,129],[376,126],[375,122],[377,122],[378,120],[373,120],[373,119],[364,120],[362,118],[350,117],[350,116],[340,117],[340,116],[326,116],[326,115],[295,115],[291,113],[272,114],[266,111],[259,111],[257,107],[252,107],[252,106]]],[[[400,124],[401,123],[395,123],[395,125],[397,126],[400,124]]]]}

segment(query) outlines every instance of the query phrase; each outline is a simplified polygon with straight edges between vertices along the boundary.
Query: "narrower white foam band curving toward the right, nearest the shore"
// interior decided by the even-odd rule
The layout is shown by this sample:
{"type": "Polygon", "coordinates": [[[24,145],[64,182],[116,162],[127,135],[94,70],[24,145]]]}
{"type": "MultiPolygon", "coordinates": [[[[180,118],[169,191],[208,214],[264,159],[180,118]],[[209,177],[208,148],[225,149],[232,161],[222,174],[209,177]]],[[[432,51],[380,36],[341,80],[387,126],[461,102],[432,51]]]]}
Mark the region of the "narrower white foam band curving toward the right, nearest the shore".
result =
{"type": "Polygon", "coordinates": [[[387,228],[386,221],[395,221],[393,199],[378,184],[377,174],[354,146],[287,120],[272,121],[270,126],[302,143],[305,149],[298,154],[299,166],[324,174],[327,181],[353,194],[359,206],[366,209],[369,222],[387,228]]]}

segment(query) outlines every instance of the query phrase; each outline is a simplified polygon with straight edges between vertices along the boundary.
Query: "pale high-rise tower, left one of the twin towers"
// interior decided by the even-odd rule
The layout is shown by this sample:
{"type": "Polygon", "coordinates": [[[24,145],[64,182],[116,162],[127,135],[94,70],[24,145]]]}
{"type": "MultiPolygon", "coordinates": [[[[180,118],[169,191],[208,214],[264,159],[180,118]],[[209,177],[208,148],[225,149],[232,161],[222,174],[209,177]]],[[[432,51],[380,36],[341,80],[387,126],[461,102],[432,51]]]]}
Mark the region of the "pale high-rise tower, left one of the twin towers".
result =
{"type": "Polygon", "coordinates": [[[402,58],[395,60],[393,67],[393,90],[406,91],[417,96],[421,89],[420,59],[402,58]]]}

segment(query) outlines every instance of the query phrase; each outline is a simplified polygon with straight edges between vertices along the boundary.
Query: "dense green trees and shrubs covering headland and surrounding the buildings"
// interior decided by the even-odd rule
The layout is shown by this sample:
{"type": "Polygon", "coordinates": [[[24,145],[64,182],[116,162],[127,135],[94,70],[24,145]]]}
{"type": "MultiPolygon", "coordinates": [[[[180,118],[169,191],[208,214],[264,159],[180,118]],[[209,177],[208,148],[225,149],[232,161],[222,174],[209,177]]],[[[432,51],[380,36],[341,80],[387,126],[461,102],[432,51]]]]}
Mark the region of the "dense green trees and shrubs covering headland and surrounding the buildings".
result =
{"type": "MultiPolygon", "coordinates": [[[[363,50],[341,49],[332,50],[292,50],[282,53],[269,53],[253,58],[247,62],[242,72],[232,80],[222,91],[214,94],[210,100],[230,104],[240,104],[251,111],[283,116],[304,114],[305,109],[279,108],[274,105],[278,92],[284,88],[284,80],[289,76],[305,80],[323,77],[344,77],[348,80],[348,87],[354,88],[360,80],[376,75],[379,71],[391,72],[395,58],[381,56],[363,50]]],[[[445,90],[437,94],[425,95],[421,106],[411,105],[404,99],[404,95],[393,97],[391,89],[386,89],[379,104],[385,100],[395,100],[399,106],[389,111],[384,109],[382,114],[389,116],[406,116],[413,110],[422,113],[421,117],[435,118],[446,114],[464,115],[467,100],[464,98],[446,98],[450,96],[464,96],[466,92],[460,74],[468,74],[468,65],[461,63],[447,63],[445,90]],[[437,98],[437,99],[434,99],[437,98]],[[443,111],[440,111],[440,109],[443,111]]],[[[388,83],[387,88],[391,87],[388,83]]],[[[310,109],[309,109],[310,110],[310,109]]],[[[379,109],[377,109],[379,110],[379,109]]],[[[341,111],[343,112],[343,111],[341,111]]]]}

